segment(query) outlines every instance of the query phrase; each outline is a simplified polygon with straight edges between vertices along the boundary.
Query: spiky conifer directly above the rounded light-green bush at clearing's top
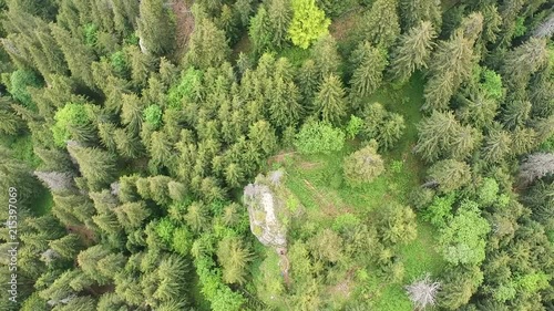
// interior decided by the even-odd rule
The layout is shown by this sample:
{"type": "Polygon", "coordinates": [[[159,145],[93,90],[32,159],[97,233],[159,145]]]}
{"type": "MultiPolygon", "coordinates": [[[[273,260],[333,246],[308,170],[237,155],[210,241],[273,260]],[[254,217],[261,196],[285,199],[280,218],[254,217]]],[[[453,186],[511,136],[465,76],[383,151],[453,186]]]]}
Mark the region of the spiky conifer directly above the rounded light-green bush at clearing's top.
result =
{"type": "Polygon", "coordinates": [[[340,79],[330,74],[324,79],[316,99],[314,100],[316,113],[324,122],[339,124],[347,115],[347,101],[345,99],[345,89],[340,79]]]}

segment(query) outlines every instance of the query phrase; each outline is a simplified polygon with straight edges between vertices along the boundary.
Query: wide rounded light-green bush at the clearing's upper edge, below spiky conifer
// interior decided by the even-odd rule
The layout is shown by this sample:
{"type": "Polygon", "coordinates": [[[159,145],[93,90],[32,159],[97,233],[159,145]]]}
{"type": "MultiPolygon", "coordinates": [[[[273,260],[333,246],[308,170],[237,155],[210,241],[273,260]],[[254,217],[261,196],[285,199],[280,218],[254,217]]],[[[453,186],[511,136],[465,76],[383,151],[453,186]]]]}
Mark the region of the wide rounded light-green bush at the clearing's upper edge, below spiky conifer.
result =
{"type": "Polygon", "coordinates": [[[296,135],[295,147],[301,154],[329,154],[342,149],[345,133],[322,122],[308,122],[296,135]]]}

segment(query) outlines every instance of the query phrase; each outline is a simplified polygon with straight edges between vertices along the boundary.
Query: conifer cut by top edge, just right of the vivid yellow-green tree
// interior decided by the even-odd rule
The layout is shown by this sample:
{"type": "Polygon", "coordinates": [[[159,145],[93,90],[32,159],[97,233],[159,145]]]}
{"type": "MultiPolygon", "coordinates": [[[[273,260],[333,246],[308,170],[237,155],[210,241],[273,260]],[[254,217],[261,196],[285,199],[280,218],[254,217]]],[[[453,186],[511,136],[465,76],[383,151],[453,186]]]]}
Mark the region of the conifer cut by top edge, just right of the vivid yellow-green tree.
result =
{"type": "Polygon", "coordinates": [[[361,21],[361,37],[371,45],[388,50],[400,34],[397,0],[376,0],[361,21]]]}

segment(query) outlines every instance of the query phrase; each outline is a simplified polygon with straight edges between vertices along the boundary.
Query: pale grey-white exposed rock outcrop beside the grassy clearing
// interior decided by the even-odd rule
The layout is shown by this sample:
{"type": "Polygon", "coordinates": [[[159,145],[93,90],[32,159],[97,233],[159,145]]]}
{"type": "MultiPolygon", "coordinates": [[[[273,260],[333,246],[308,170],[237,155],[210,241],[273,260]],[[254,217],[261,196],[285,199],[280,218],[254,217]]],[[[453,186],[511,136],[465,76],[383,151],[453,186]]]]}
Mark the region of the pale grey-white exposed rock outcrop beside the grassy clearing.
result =
{"type": "MultiPolygon", "coordinates": [[[[269,176],[275,177],[275,172],[270,173],[269,176]]],[[[250,230],[258,240],[268,247],[286,248],[286,228],[278,219],[279,211],[285,205],[271,187],[266,185],[274,183],[275,179],[268,183],[264,176],[258,176],[254,184],[244,188],[244,201],[248,207],[250,230]]]]}

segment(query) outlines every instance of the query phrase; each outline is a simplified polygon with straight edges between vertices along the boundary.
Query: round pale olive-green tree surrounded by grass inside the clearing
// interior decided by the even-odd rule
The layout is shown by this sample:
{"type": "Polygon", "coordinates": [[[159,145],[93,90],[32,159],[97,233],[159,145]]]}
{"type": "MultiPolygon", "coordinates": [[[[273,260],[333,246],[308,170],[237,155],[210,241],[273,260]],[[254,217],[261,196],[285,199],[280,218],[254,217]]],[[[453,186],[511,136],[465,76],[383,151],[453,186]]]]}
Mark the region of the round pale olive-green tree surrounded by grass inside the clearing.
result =
{"type": "Polygon", "coordinates": [[[381,175],[384,165],[376,148],[367,146],[345,158],[343,170],[350,186],[361,186],[381,175]]]}

